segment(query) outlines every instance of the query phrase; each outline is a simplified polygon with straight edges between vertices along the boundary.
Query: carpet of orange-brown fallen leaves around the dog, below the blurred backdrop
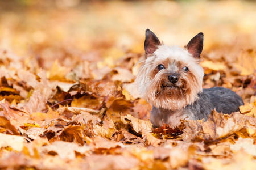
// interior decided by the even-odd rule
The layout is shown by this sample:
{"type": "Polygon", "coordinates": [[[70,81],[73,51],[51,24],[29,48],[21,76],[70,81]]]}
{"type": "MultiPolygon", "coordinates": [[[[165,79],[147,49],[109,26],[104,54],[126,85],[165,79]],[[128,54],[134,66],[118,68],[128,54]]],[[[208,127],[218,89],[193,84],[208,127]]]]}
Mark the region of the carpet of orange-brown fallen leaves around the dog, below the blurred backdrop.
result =
{"type": "MultiPolygon", "coordinates": [[[[141,57],[137,54],[127,54],[114,67],[82,61],[67,68],[55,61],[51,70],[5,50],[0,56],[0,168],[256,166],[255,73],[237,61],[206,59],[202,66],[205,87],[229,87],[243,97],[241,113],[212,111],[205,122],[154,128],[148,121],[151,106],[138,97],[133,84],[141,57]]],[[[243,52],[246,56],[256,55],[243,52]]]]}

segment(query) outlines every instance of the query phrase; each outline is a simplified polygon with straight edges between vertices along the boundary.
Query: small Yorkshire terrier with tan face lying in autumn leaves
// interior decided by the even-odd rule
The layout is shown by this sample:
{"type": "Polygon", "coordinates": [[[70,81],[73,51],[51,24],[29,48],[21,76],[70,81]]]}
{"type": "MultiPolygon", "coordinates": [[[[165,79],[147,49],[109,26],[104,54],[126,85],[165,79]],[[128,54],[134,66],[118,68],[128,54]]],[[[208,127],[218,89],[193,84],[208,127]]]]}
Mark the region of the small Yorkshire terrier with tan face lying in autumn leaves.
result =
{"type": "Polygon", "coordinates": [[[239,111],[243,100],[223,87],[203,89],[204,70],[199,65],[203,33],[184,48],[166,46],[146,30],[144,49],[135,83],[142,97],[153,105],[150,121],[155,126],[177,126],[180,120],[207,120],[213,109],[230,114],[239,111]]]}

